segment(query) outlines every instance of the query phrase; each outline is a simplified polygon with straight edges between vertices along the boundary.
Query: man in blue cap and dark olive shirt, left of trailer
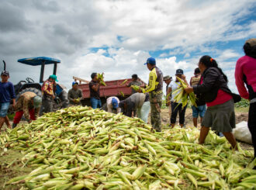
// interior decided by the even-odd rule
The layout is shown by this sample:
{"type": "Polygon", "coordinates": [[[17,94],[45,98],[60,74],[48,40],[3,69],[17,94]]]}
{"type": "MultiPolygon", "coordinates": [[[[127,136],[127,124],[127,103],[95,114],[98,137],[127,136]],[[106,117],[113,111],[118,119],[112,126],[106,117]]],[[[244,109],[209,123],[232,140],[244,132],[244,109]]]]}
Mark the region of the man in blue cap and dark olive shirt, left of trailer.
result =
{"type": "Polygon", "coordinates": [[[81,98],[83,97],[83,92],[78,88],[78,82],[72,82],[72,88],[67,93],[67,98],[71,105],[81,105],[81,98]]]}

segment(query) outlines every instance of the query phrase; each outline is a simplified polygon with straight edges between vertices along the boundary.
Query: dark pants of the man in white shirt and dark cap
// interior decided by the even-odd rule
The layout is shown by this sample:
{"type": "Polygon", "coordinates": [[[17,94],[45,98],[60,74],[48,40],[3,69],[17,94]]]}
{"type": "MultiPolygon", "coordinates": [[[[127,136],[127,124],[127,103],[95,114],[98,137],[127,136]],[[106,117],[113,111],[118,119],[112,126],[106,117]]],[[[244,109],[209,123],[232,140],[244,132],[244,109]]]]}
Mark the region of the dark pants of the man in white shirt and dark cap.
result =
{"type": "Polygon", "coordinates": [[[177,116],[179,116],[179,124],[185,123],[185,109],[187,109],[187,105],[182,109],[182,104],[171,102],[171,124],[176,123],[177,116]]]}

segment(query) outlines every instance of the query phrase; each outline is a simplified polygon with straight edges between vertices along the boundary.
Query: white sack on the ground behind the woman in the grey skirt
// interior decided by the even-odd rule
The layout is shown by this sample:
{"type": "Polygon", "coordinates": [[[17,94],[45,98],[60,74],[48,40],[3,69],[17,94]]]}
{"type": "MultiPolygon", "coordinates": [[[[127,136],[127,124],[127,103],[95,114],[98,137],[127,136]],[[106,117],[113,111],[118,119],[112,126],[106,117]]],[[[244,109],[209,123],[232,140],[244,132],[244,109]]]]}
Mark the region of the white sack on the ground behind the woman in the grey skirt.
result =
{"type": "Polygon", "coordinates": [[[237,123],[236,128],[233,130],[234,136],[237,140],[244,143],[252,144],[251,133],[248,129],[247,122],[237,123]]]}

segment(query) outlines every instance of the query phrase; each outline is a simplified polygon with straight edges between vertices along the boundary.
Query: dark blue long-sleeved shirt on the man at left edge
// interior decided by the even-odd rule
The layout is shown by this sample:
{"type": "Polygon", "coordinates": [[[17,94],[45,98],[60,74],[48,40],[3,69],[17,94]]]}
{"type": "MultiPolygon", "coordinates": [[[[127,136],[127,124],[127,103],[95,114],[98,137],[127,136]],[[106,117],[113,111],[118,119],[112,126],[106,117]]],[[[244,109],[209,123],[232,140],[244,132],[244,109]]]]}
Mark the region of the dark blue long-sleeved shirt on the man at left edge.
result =
{"type": "Polygon", "coordinates": [[[11,98],[16,98],[12,82],[0,81],[0,103],[11,102],[11,98]]]}

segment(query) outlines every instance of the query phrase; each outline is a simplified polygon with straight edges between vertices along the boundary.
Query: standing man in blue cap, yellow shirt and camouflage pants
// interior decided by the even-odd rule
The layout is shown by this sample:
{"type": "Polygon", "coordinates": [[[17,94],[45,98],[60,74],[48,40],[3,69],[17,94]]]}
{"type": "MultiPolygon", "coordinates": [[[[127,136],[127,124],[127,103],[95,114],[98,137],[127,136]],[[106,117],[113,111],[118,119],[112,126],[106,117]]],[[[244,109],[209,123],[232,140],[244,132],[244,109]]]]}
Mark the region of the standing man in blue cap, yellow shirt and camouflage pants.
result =
{"type": "Polygon", "coordinates": [[[156,60],[153,57],[147,59],[147,68],[150,70],[149,81],[146,88],[142,89],[143,93],[149,92],[151,124],[157,132],[161,131],[161,105],[163,96],[163,74],[156,67],[156,60]]]}

